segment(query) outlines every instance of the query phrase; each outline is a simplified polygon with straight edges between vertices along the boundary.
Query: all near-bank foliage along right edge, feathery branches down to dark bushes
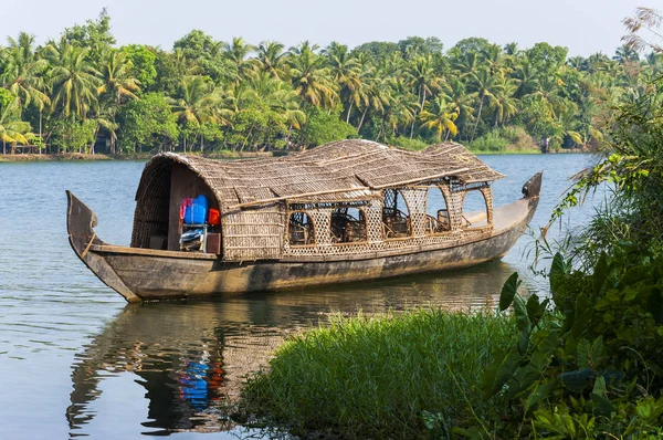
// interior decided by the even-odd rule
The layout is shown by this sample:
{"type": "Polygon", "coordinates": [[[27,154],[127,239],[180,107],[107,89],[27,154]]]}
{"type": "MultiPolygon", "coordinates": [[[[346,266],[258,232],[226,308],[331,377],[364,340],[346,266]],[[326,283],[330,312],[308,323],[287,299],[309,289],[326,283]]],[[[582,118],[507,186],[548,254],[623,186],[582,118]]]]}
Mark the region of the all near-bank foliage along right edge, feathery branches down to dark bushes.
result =
{"type": "Polygon", "coordinates": [[[617,108],[609,153],[555,210],[558,219],[608,190],[604,207],[552,259],[552,301],[525,302],[517,274],[504,286],[501,308],[513,305],[520,336],[483,380],[486,397],[508,402],[495,420],[501,436],[663,437],[662,92],[657,78],[617,108]]]}

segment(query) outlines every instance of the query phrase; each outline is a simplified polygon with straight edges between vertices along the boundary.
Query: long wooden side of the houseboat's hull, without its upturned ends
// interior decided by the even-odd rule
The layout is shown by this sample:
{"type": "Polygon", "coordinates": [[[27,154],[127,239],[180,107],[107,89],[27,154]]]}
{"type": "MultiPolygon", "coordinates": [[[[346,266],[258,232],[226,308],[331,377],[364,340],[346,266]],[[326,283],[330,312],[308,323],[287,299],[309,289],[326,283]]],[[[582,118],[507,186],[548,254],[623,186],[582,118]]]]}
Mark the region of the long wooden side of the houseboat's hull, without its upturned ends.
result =
{"type": "Polygon", "coordinates": [[[256,261],[238,264],[114,252],[98,254],[134,294],[149,301],[301,289],[463,269],[504,255],[522,234],[523,228],[448,249],[351,261],[256,261]]]}

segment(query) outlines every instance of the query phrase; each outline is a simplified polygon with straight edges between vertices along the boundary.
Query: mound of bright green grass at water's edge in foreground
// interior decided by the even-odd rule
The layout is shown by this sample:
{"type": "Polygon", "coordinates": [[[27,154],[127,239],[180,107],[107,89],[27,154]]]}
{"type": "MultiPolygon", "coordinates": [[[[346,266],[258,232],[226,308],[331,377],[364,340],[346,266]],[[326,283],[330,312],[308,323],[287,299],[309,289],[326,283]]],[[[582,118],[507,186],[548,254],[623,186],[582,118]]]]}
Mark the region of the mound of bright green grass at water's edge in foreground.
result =
{"type": "Polygon", "coordinates": [[[431,310],[336,317],[281,346],[249,379],[244,404],[293,433],[420,437],[430,433],[424,411],[439,413],[449,432],[494,417],[481,377],[514,328],[502,316],[431,310]]]}

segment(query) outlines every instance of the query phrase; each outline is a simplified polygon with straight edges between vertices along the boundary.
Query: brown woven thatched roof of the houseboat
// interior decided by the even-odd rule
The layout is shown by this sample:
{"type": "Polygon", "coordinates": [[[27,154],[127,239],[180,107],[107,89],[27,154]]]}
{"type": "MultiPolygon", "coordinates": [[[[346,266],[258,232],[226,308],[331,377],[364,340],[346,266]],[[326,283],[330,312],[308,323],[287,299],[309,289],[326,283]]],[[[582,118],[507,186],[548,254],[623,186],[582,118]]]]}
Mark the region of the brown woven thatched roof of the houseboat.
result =
{"type": "Polygon", "coordinates": [[[146,165],[137,200],[155,175],[172,163],[183,164],[198,174],[225,212],[274,199],[354,200],[382,188],[442,177],[455,177],[464,184],[504,177],[459,144],[444,143],[412,153],[355,139],[281,158],[212,160],[160,154],[146,165]]]}

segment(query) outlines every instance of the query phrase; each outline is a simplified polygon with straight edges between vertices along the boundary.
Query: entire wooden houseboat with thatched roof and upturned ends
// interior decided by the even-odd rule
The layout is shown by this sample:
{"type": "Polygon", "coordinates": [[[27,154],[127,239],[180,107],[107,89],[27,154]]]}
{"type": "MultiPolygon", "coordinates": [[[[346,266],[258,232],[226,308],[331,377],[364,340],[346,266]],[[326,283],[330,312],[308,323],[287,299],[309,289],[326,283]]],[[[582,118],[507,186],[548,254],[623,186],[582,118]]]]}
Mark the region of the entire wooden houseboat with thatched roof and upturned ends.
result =
{"type": "Polygon", "coordinates": [[[541,172],[493,207],[504,176],[454,143],[413,153],[367,140],[278,158],[172,153],[145,166],[130,247],[104,242],[67,191],[74,252],[128,302],[299,289],[467,268],[503,256],[530,221],[541,172]],[[464,209],[478,196],[480,210],[464,209]],[[217,221],[188,224],[203,197],[217,221]],[[182,243],[190,229],[194,245],[182,243]]]}

